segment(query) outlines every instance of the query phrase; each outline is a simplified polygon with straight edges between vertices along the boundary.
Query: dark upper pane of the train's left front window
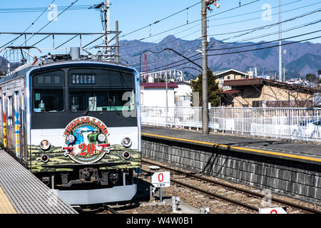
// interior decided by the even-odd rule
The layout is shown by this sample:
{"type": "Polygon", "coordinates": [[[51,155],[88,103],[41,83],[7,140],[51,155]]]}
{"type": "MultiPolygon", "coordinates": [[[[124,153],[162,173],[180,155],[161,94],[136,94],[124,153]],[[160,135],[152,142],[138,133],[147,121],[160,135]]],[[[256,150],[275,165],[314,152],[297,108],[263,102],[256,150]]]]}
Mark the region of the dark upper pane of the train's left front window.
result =
{"type": "Polygon", "coordinates": [[[63,86],[63,71],[50,71],[34,76],[34,87],[61,87],[63,86]]]}

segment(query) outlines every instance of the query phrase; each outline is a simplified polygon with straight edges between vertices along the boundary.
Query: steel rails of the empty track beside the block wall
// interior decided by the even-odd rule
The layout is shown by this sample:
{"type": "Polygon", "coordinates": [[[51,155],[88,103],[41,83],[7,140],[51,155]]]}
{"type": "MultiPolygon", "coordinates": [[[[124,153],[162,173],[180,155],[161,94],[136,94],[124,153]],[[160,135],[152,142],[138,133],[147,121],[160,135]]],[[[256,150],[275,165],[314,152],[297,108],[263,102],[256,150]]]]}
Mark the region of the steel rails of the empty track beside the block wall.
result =
{"type": "MultiPolygon", "coordinates": [[[[230,185],[230,184],[226,184],[226,183],[223,183],[223,182],[218,182],[218,181],[215,181],[215,180],[212,180],[208,177],[202,177],[200,175],[195,175],[191,172],[186,172],[186,171],[182,171],[182,170],[178,170],[177,168],[173,168],[173,167],[168,167],[167,165],[161,165],[159,164],[158,162],[151,162],[149,160],[146,160],[146,159],[142,159],[142,162],[145,162],[146,164],[150,164],[150,165],[158,165],[159,167],[162,167],[163,169],[165,170],[170,170],[170,171],[173,171],[175,173],[178,173],[180,175],[185,175],[185,177],[190,177],[190,178],[193,178],[195,180],[200,180],[200,181],[203,181],[203,182],[208,182],[210,183],[210,185],[215,185],[215,186],[218,186],[218,187],[223,187],[227,190],[230,190],[230,191],[233,191],[233,192],[240,192],[241,194],[243,195],[247,195],[247,196],[250,196],[250,197],[255,197],[256,199],[263,199],[264,197],[266,197],[266,195],[262,194],[262,193],[259,193],[259,192],[253,192],[251,190],[246,190],[246,189],[243,189],[243,188],[240,188],[240,187],[237,187],[237,186],[234,186],[234,185],[230,185]]],[[[144,170],[146,172],[150,172],[148,170],[144,170]]],[[[202,192],[203,194],[205,195],[208,195],[208,196],[211,196],[211,197],[216,197],[218,199],[222,199],[226,202],[230,202],[230,203],[233,203],[235,205],[240,205],[242,207],[246,207],[248,209],[252,209],[256,212],[258,212],[258,209],[259,207],[257,206],[254,206],[252,204],[248,204],[248,203],[245,203],[245,202],[241,202],[240,200],[237,200],[237,199],[232,199],[230,197],[226,197],[224,195],[221,195],[221,194],[218,194],[218,193],[215,193],[215,192],[210,192],[210,191],[207,191],[201,187],[196,187],[195,185],[188,185],[187,183],[185,182],[182,182],[182,181],[178,181],[178,180],[175,180],[175,179],[171,179],[170,180],[171,182],[174,182],[175,184],[177,185],[182,185],[182,186],[185,186],[185,187],[188,187],[190,189],[193,189],[195,191],[198,191],[198,192],[202,192]]],[[[282,204],[282,205],[286,205],[287,207],[292,207],[292,208],[296,208],[296,209],[299,209],[303,212],[306,212],[306,213],[311,213],[311,214],[321,214],[321,211],[318,210],[318,209],[313,209],[313,208],[310,208],[310,207],[305,207],[303,205],[300,205],[300,204],[295,204],[293,202],[288,202],[288,201],[285,201],[283,199],[278,199],[276,197],[271,197],[271,201],[274,202],[274,203],[277,203],[277,204],[282,204]]]]}

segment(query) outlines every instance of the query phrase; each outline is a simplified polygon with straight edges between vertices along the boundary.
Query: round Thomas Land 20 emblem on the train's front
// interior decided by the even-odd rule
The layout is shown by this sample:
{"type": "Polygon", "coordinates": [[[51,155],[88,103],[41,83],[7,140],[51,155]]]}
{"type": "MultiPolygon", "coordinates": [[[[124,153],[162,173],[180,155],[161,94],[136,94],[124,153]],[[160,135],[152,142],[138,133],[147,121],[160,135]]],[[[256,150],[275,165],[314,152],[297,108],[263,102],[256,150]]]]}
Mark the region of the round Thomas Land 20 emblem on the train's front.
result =
{"type": "Polygon", "coordinates": [[[106,125],[101,120],[91,116],[76,118],[63,133],[64,155],[81,164],[98,162],[109,153],[111,145],[108,135],[106,125]]]}

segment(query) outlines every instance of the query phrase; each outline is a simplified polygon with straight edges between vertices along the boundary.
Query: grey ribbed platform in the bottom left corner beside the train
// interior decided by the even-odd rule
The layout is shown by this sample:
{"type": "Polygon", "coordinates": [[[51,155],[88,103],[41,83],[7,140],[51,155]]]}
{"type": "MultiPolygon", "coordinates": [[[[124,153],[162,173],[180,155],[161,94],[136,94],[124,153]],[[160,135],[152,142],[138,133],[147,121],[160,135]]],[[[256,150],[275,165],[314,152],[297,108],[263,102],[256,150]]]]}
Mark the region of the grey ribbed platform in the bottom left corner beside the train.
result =
{"type": "Polygon", "coordinates": [[[0,150],[0,214],[78,214],[49,187],[0,150]]]}

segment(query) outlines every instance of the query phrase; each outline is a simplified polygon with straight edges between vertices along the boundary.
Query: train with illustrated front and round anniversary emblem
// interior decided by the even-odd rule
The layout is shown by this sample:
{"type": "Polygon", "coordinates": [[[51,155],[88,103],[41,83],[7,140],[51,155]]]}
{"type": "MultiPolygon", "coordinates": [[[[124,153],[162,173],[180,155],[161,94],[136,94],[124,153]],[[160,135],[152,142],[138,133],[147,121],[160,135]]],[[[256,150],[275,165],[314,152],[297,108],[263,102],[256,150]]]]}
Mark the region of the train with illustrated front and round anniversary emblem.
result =
{"type": "Polygon", "coordinates": [[[135,68],[71,48],[19,66],[1,79],[0,91],[1,147],[58,197],[84,205],[136,195],[141,111],[135,68]]]}

